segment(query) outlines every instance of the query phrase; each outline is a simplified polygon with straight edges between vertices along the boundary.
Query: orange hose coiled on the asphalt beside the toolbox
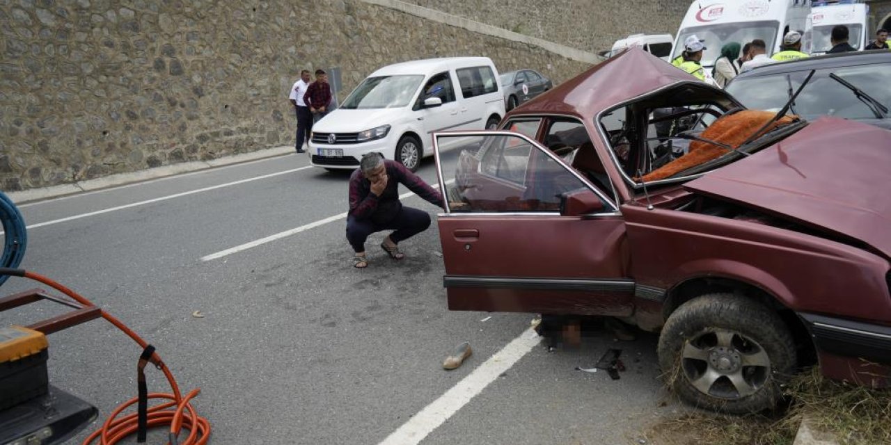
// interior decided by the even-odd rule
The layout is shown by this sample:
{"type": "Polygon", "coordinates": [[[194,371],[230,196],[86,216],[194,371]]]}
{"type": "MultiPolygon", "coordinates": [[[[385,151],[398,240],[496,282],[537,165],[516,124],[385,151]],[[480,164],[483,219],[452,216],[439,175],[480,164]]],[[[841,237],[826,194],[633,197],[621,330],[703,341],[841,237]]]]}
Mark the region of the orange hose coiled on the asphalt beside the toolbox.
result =
{"type": "MultiPolygon", "coordinates": [[[[34,279],[35,281],[39,281],[44,283],[47,286],[53,287],[58,290],[62,294],[68,295],[73,298],[78,303],[83,304],[84,306],[95,307],[95,304],[87,300],[81,295],[78,295],[77,292],[69,289],[68,287],[64,287],[61,284],[53,281],[53,279],[48,279],[43,275],[39,275],[34,272],[25,271],[25,277],[29,279],[34,279]]],[[[102,314],[102,318],[108,320],[112,325],[119,328],[124,334],[127,334],[130,338],[132,338],[136,344],[139,344],[143,349],[148,346],[148,343],[142,339],[142,337],[137,336],[135,332],[133,332],[130,328],[124,325],[120,320],[111,316],[108,312],[100,310],[102,314]]],[[[171,439],[176,438],[183,428],[189,430],[189,435],[185,438],[184,441],[176,440],[176,443],[182,445],[203,445],[207,443],[210,438],[210,423],[208,419],[204,417],[198,416],[198,413],[192,408],[192,404],[189,401],[192,400],[193,397],[198,395],[200,389],[193,389],[191,392],[186,394],[185,397],[179,392],[179,385],[176,384],[176,379],[173,374],[170,373],[170,369],[167,365],[164,364],[164,361],[161,360],[158,352],[154,352],[151,354],[151,363],[160,368],[160,370],[164,373],[164,376],[167,377],[168,382],[170,384],[170,388],[173,390],[172,394],[163,393],[163,392],[151,392],[148,395],[148,398],[151,399],[164,399],[168,400],[159,405],[155,405],[148,409],[148,427],[155,428],[164,425],[170,425],[169,433],[171,439]]],[[[127,408],[134,405],[139,401],[138,397],[134,397],[129,401],[126,401],[119,405],[117,409],[111,412],[111,415],[105,420],[105,423],[102,424],[102,428],[94,431],[89,435],[84,441],[83,445],[89,445],[96,440],[96,438],[100,438],[100,443],[102,445],[113,445],[123,440],[127,436],[136,433],[138,429],[138,419],[135,413],[129,414],[125,417],[118,416],[127,408]]]]}

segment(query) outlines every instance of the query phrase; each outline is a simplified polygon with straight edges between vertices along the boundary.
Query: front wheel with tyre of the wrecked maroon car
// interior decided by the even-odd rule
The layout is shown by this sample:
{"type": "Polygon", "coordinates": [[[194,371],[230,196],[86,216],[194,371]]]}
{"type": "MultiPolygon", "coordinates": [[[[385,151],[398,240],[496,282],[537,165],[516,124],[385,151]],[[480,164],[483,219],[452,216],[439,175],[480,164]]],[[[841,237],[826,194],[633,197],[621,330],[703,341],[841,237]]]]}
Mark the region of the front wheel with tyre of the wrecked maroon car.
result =
{"type": "Polygon", "coordinates": [[[666,384],[684,401],[731,414],[774,408],[796,364],[780,317],[732,294],[683,303],[662,328],[658,356],[666,384]]]}

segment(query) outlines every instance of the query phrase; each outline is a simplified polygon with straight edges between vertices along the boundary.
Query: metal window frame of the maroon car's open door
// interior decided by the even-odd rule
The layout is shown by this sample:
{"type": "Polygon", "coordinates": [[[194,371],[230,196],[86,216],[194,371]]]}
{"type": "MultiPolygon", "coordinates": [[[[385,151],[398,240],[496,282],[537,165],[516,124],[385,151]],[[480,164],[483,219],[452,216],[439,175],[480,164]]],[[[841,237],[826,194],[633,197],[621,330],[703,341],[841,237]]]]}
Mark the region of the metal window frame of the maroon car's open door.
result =
{"type": "MultiPolygon", "coordinates": [[[[445,182],[445,178],[443,176],[442,163],[439,158],[439,136],[440,135],[453,136],[453,137],[454,136],[494,136],[494,135],[519,137],[520,139],[524,140],[525,142],[527,142],[531,145],[530,156],[531,156],[531,150],[539,150],[540,152],[544,153],[544,156],[551,158],[552,161],[556,162],[559,166],[561,166],[566,172],[568,172],[568,174],[571,174],[572,176],[574,176],[579,182],[582,182],[584,187],[586,187],[588,190],[591,190],[595,195],[597,195],[598,198],[601,199],[604,209],[601,212],[598,212],[596,214],[584,215],[584,217],[620,216],[621,215],[617,204],[612,200],[612,198],[607,197],[603,193],[603,191],[600,190],[600,188],[596,187],[590,181],[588,181],[588,179],[585,178],[583,174],[579,174],[575,168],[572,168],[571,166],[567,166],[562,161],[562,159],[560,159],[559,156],[555,155],[551,150],[548,150],[541,143],[539,143],[538,141],[536,141],[533,138],[528,137],[525,134],[519,134],[519,133],[509,132],[509,131],[505,131],[505,130],[434,133],[433,134],[433,148],[434,148],[434,153],[435,153],[436,162],[437,162],[437,177],[438,177],[439,183],[441,183],[441,184],[446,183],[446,182],[445,182]]],[[[483,156],[485,156],[485,153],[483,156]]],[[[486,177],[494,178],[495,180],[498,180],[498,181],[507,182],[506,180],[497,178],[491,174],[487,174],[487,173],[483,172],[482,171],[482,162],[481,162],[482,158],[479,158],[479,160],[480,160],[480,162],[478,163],[478,166],[477,166],[478,174],[485,174],[486,177]]],[[[525,182],[525,179],[524,179],[524,182],[525,182]]],[[[512,186],[520,186],[519,184],[517,184],[515,182],[509,182],[509,183],[512,186]]],[[[521,187],[525,187],[525,185],[522,185],[521,187]]],[[[441,216],[448,216],[448,215],[455,216],[455,215],[457,215],[457,216],[488,216],[488,217],[491,217],[493,215],[501,215],[501,216],[535,216],[535,215],[554,216],[554,215],[560,215],[560,212],[458,212],[458,213],[455,213],[452,211],[451,207],[449,206],[447,199],[446,199],[445,210],[446,210],[446,213],[440,214],[441,216]]]]}

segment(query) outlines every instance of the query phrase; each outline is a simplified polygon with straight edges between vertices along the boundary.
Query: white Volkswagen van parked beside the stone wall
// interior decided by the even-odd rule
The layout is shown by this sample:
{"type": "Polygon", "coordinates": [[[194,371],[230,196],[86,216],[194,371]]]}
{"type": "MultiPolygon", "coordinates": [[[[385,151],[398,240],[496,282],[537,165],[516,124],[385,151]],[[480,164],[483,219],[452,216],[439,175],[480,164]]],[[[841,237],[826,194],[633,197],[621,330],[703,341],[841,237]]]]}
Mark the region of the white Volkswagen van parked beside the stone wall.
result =
{"type": "Polygon", "coordinates": [[[376,151],[414,171],[433,154],[433,132],[494,129],[503,116],[488,57],[396,63],[374,71],[313,125],[308,154],[313,166],[354,169],[376,151]]]}

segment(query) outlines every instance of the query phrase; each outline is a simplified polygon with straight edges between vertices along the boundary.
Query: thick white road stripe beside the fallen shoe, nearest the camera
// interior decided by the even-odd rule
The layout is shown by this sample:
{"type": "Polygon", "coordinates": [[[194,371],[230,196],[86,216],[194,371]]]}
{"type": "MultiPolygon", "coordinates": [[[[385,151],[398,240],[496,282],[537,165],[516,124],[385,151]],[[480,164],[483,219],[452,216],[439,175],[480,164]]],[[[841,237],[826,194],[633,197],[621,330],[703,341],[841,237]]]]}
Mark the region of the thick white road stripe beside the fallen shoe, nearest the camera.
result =
{"type": "Polygon", "coordinates": [[[532,351],[536,344],[541,342],[541,337],[534,335],[533,329],[528,328],[517,338],[514,338],[511,343],[496,352],[479,368],[474,369],[461,382],[439,396],[436,401],[421,409],[418,414],[415,414],[411,420],[390,434],[387,439],[381,441],[379,445],[416,445],[423,441],[429,433],[433,433],[439,425],[443,425],[449,417],[454,416],[454,413],[462,409],[464,405],[486,389],[486,386],[494,382],[498,376],[510,369],[514,363],[522,359],[529,351],[532,351]]]}

